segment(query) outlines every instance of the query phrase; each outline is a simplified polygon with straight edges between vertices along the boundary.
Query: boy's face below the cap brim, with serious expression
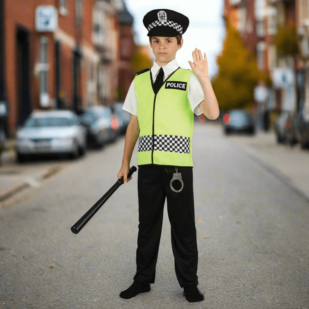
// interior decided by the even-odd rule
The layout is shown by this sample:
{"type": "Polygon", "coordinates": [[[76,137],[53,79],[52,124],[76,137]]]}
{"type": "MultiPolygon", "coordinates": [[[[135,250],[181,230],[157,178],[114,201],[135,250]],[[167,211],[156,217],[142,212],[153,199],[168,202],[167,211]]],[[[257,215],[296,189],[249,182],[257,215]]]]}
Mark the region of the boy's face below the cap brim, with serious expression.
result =
{"type": "Polygon", "coordinates": [[[160,65],[175,59],[176,52],[182,47],[182,44],[183,39],[181,39],[180,45],[177,45],[176,37],[154,36],[151,38],[150,47],[156,62],[160,65]]]}

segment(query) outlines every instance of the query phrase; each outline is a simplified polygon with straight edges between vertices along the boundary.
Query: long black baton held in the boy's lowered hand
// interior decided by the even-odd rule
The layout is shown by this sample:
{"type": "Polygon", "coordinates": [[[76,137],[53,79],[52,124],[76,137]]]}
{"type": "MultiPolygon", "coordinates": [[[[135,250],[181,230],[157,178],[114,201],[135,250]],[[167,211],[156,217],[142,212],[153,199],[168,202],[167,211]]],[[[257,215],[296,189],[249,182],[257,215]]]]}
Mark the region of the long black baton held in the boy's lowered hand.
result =
{"type": "MultiPolygon", "coordinates": [[[[133,165],[130,170],[127,178],[130,178],[133,172],[137,168],[133,165]]],[[[100,207],[111,197],[111,195],[124,183],[123,176],[119,178],[116,183],[110,188],[100,199],[93,205],[86,214],[83,215],[72,227],[71,231],[74,234],[78,234],[79,231],[87,224],[87,222],[95,215],[95,213],[100,209],[100,207]]]]}

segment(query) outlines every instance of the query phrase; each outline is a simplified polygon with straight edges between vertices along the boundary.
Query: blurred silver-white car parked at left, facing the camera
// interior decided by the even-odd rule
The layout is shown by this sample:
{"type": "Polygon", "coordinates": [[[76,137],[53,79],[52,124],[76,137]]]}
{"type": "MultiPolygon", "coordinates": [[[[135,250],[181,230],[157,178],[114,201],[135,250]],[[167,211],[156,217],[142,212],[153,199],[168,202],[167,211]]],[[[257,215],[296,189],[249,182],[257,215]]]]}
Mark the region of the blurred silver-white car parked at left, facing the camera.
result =
{"type": "Polygon", "coordinates": [[[87,148],[87,130],[71,110],[33,111],[15,137],[19,162],[29,155],[83,155],[87,148]]]}

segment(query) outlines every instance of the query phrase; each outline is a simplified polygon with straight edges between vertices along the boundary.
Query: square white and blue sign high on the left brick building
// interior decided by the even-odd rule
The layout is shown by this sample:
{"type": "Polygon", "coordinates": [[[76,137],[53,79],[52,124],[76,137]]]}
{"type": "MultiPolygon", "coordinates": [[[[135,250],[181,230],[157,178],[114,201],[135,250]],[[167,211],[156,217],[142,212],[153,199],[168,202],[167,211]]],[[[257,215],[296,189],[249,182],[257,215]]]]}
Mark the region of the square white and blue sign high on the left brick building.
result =
{"type": "Polygon", "coordinates": [[[58,28],[58,12],[52,5],[36,7],[36,31],[55,32],[58,28]]]}

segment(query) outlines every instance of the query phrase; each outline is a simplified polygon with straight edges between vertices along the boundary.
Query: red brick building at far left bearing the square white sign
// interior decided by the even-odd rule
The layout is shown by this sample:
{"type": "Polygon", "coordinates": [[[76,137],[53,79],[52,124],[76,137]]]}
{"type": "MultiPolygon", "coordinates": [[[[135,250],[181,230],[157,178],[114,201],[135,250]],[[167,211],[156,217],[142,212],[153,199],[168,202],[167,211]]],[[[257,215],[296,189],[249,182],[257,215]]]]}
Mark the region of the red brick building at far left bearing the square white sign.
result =
{"type": "Polygon", "coordinates": [[[78,110],[95,100],[99,54],[93,0],[2,0],[8,136],[34,108],[78,110]],[[43,6],[43,7],[42,7],[43,6]]]}

